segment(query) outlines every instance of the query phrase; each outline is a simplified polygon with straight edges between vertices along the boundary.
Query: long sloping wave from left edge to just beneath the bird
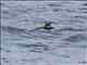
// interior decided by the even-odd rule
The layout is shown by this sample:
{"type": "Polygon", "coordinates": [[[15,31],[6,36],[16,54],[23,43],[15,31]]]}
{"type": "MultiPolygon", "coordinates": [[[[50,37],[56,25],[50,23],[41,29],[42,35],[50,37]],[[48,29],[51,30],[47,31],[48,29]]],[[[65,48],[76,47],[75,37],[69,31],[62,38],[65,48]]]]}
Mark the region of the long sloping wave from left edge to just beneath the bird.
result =
{"type": "Polygon", "coordinates": [[[24,38],[32,38],[32,39],[40,38],[40,39],[52,40],[61,36],[61,34],[58,34],[55,31],[45,31],[45,30],[32,31],[32,30],[26,30],[24,28],[20,29],[20,28],[10,27],[10,26],[2,26],[1,29],[12,35],[16,35],[24,38]]]}

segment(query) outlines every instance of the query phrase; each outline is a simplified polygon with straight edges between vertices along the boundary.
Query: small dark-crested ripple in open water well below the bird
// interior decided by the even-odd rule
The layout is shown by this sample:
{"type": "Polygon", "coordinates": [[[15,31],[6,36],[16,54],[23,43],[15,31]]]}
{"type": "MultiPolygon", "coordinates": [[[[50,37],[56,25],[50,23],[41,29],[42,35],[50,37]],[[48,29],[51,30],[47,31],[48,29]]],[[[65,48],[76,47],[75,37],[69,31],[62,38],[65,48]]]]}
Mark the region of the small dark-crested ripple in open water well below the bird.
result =
{"type": "Polygon", "coordinates": [[[49,47],[42,43],[37,43],[37,44],[17,43],[16,46],[21,48],[28,48],[29,52],[44,53],[45,51],[49,51],[49,47]]]}

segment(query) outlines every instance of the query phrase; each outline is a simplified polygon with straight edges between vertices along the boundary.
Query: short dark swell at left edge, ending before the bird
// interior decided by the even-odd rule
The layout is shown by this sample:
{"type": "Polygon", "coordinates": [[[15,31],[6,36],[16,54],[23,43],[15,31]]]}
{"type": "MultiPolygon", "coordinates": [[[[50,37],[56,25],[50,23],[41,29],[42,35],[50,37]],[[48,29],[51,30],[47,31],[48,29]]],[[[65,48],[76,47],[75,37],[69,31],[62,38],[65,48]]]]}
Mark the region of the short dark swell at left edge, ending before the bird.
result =
{"type": "Polygon", "coordinates": [[[1,29],[11,35],[16,35],[24,38],[33,38],[30,34],[28,35],[26,34],[25,29],[20,29],[20,28],[10,27],[10,26],[1,26],[1,29]]]}

